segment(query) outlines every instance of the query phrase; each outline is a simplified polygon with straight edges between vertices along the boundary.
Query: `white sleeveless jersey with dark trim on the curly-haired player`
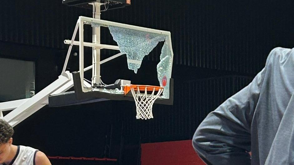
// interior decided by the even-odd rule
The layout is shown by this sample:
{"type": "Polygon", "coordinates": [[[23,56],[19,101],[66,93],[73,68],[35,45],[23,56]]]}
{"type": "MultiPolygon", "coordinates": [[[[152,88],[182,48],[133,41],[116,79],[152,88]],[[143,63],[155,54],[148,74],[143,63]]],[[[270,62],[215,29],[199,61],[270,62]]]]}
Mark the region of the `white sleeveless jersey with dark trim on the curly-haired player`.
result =
{"type": "Polygon", "coordinates": [[[8,165],[35,165],[37,151],[31,147],[17,146],[17,153],[8,165]]]}

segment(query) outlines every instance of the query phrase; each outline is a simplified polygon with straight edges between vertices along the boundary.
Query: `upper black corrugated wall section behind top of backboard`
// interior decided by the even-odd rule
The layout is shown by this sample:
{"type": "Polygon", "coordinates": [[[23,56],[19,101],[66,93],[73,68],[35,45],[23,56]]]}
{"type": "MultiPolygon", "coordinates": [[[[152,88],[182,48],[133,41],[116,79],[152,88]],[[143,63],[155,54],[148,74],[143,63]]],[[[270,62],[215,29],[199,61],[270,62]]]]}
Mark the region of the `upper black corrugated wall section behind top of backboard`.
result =
{"type": "MultiPolygon", "coordinates": [[[[134,0],[102,12],[102,19],[171,31],[174,64],[255,74],[272,48],[294,45],[292,6],[290,0],[134,0]]],[[[63,40],[71,38],[78,16],[92,17],[91,10],[60,0],[3,0],[0,11],[0,41],[58,49],[67,49],[63,40]]],[[[102,42],[115,44],[107,30],[102,35],[102,42]]],[[[148,58],[159,55],[156,48],[148,58]]]]}

